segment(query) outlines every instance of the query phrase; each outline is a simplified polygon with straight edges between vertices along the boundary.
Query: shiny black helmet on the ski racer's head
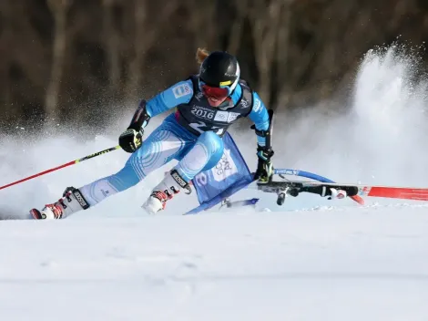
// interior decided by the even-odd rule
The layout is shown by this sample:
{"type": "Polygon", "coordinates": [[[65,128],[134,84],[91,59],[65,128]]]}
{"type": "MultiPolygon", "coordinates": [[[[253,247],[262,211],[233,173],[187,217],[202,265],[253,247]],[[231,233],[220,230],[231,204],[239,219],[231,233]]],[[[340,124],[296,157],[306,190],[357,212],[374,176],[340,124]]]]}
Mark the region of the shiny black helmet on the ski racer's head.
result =
{"type": "Polygon", "coordinates": [[[225,51],[213,51],[206,57],[199,70],[199,79],[211,87],[229,87],[232,92],[240,75],[236,57],[225,51]]]}

